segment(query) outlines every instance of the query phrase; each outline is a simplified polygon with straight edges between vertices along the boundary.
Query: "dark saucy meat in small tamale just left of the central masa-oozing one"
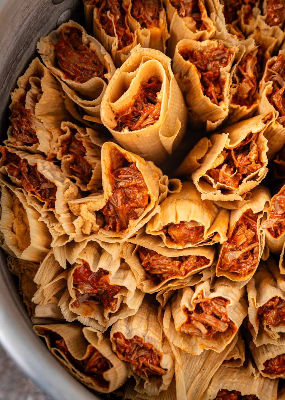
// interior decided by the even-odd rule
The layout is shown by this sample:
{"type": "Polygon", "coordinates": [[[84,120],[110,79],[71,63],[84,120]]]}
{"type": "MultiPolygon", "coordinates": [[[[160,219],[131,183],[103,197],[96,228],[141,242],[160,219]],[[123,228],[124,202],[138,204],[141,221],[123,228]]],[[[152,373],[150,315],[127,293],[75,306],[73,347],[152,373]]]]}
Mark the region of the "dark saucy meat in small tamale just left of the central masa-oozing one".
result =
{"type": "Polygon", "coordinates": [[[86,160],[86,149],[83,146],[82,140],[78,140],[72,134],[61,143],[62,154],[69,154],[72,161],[69,168],[74,176],[77,176],[81,182],[87,184],[92,177],[92,167],[86,160]]]}

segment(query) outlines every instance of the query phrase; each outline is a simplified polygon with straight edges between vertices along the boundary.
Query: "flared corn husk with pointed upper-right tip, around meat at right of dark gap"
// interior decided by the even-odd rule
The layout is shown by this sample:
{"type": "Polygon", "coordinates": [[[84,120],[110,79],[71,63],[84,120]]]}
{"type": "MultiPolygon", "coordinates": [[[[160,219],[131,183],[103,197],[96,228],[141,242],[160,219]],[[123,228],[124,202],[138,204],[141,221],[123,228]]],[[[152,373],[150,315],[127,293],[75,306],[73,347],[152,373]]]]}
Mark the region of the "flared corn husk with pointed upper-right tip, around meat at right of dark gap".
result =
{"type": "MultiPolygon", "coordinates": [[[[264,132],[273,120],[273,112],[258,115],[248,120],[237,122],[232,126],[224,129],[225,133],[213,134],[211,136],[212,147],[208,150],[203,159],[201,167],[193,172],[192,179],[196,188],[202,193],[202,200],[214,200],[223,202],[224,206],[231,208],[231,202],[234,200],[244,200],[247,193],[255,188],[263,178],[265,178],[267,168],[267,139],[264,132]],[[249,134],[257,134],[256,143],[258,151],[258,158],[260,160],[261,168],[255,172],[249,173],[238,184],[238,188],[228,186],[227,184],[214,182],[214,179],[208,176],[207,172],[211,168],[216,168],[224,162],[222,151],[232,150],[240,146],[241,142],[249,134]]],[[[221,204],[221,203],[220,203],[221,204]]]]}

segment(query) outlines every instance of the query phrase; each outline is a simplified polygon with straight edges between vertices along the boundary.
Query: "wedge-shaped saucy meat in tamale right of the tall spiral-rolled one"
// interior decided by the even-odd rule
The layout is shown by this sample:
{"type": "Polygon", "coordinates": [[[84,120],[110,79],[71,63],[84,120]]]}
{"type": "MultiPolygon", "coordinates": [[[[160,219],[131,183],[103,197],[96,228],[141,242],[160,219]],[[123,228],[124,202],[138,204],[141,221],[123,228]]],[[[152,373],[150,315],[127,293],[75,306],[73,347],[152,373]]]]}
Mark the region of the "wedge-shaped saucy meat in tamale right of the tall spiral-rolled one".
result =
{"type": "Polygon", "coordinates": [[[224,80],[220,76],[220,68],[226,67],[234,50],[227,49],[224,44],[208,46],[203,50],[180,50],[180,55],[186,61],[190,61],[197,68],[201,82],[202,92],[208,96],[213,104],[219,104],[224,100],[224,80]]]}

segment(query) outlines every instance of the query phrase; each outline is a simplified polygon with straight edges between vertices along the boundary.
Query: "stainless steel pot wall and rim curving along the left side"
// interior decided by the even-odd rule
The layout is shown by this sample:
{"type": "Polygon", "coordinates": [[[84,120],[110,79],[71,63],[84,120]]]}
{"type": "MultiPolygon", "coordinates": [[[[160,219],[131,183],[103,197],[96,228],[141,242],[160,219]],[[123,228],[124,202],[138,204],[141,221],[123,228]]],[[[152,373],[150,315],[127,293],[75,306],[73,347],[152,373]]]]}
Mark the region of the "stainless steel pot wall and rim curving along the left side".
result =
{"type": "MultiPolygon", "coordinates": [[[[6,138],[10,91],[36,55],[40,36],[78,17],[80,0],[0,0],[0,124],[6,138]]],[[[77,18],[76,18],[77,19],[77,18]]],[[[51,356],[32,330],[6,259],[0,254],[0,342],[21,370],[54,400],[99,400],[51,356]]]]}

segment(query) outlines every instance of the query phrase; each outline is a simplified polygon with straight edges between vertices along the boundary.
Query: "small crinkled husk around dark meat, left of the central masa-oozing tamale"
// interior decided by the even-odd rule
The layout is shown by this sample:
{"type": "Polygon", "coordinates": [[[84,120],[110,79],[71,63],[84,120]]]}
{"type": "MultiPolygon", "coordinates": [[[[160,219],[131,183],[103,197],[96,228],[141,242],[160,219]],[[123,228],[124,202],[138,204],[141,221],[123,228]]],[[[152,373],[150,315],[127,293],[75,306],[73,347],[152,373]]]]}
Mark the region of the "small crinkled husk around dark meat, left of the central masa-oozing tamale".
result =
{"type": "Polygon", "coordinates": [[[61,161],[61,170],[67,178],[75,181],[75,184],[83,191],[93,192],[102,187],[101,147],[104,142],[99,133],[91,128],[81,128],[71,122],[61,123],[61,135],[55,143],[56,158],[61,161]],[[64,153],[63,143],[72,136],[83,144],[86,150],[84,159],[92,167],[92,176],[87,184],[73,174],[73,170],[70,168],[73,165],[72,154],[64,153]]]}

